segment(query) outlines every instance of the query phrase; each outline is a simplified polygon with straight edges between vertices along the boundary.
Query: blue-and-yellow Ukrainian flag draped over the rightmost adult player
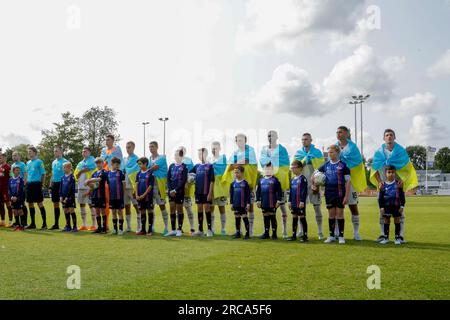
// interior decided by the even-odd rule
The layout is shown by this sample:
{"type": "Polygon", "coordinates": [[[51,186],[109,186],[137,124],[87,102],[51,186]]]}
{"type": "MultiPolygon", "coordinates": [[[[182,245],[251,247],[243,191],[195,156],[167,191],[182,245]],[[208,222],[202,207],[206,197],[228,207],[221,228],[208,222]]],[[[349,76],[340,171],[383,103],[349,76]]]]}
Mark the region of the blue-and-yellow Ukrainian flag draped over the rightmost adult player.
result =
{"type": "Polygon", "coordinates": [[[419,185],[416,169],[414,169],[406,149],[398,143],[395,143],[391,156],[386,158],[385,148],[386,145],[383,144],[380,149],[375,151],[372,168],[370,169],[370,182],[378,188],[378,181],[375,178],[375,174],[383,170],[385,166],[394,166],[398,176],[403,181],[403,189],[409,191],[416,188],[419,185]]]}

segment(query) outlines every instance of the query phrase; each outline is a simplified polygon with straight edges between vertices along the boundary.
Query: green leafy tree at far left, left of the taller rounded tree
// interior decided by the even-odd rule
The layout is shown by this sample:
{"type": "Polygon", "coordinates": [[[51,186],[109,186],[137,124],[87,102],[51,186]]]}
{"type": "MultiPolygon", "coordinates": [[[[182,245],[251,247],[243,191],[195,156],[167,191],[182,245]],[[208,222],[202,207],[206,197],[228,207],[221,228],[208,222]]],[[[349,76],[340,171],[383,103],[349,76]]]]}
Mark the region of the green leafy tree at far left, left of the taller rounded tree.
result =
{"type": "MultiPolygon", "coordinates": [[[[54,128],[42,130],[42,140],[37,146],[39,157],[44,161],[47,178],[50,177],[51,164],[54,160],[54,148],[60,146],[64,157],[76,166],[83,158],[83,135],[81,134],[80,119],[65,112],[61,114],[61,122],[53,123],[54,128]]],[[[46,183],[48,185],[49,180],[46,183]]]]}

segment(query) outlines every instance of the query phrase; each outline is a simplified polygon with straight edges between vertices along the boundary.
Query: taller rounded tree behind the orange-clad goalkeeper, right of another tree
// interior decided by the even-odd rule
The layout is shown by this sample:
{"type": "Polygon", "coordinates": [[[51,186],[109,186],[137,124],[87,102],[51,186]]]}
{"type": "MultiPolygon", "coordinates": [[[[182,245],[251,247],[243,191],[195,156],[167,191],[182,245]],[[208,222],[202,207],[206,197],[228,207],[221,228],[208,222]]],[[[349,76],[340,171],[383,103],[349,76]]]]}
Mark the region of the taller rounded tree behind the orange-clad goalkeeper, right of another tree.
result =
{"type": "Polygon", "coordinates": [[[80,128],[83,141],[92,150],[94,156],[99,156],[105,145],[107,134],[113,134],[116,141],[120,140],[118,134],[119,122],[116,120],[117,112],[110,107],[92,107],[80,118],[80,128]]]}

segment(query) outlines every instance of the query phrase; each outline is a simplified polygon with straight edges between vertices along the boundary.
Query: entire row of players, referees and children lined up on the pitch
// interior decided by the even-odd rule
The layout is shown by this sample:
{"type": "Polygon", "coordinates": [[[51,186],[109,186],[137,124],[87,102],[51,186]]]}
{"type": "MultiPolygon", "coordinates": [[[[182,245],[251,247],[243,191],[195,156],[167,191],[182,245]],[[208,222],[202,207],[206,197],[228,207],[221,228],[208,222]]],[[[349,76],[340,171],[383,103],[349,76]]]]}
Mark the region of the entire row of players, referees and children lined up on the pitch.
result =
{"type": "MultiPolygon", "coordinates": [[[[207,157],[208,151],[206,149],[199,150],[200,163],[196,166],[193,165],[192,160],[185,156],[185,149],[179,148],[175,153],[175,163],[169,168],[167,168],[165,156],[158,154],[156,142],[150,143],[150,159],[139,159],[134,154],[135,145],[133,142],[127,143],[128,156],[123,158],[120,147],[114,144],[114,137],[109,135],[106,138],[106,147],[102,150],[102,158],[94,159],[90,155],[90,150],[85,148],[83,160],[77,165],[73,173],[72,165],[62,157],[62,150],[55,148],[56,159],[52,163],[51,178],[52,201],[55,208],[55,225],[52,229],[59,229],[59,205],[62,203],[66,217],[66,227],[63,231],[78,230],[74,210],[75,190],[78,189],[78,202],[80,203],[82,218],[80,230],[90,229],[95,230],[95,232],[106,232],[109,211],[112,211],[113,232],[123,234],[123,209],[125,207],[127,231],[130,231],[131,205],[134,205],[138,212],[137,233],[146,234],[146,223],[148,221],[147,234],[151,234],[154,224],[153,206],[157,204],[162,211],[165,225],[164,234],[167,236],[182,235],[183,207],[188,212],[191,234],[203,235],[203,219],[206,216],[207,235],[212,236],[214,234],[214,207],[218,206],[221,213],[221,233],[224,234],[226,197],[229,196],[232,210],[236,214],[235,237],[241,237],[241,219],[246,229],[244,237],[248,238],[253,235],[253,203],[256,200],[264,216],[264,233],[261,237],[268,238],[269,230],[272,229],[272,237],[276,238],[277,220],[275,212],[280,207],[283,237],[287,238],[287,209],[285,205],[287,201],[293,214],[293,235],[288,239],[296,240],[297,226],[300,224],[301,240],[306,241],[308,227],[305,206],[308,198],[314,207],[319,239],[322,239],[321,195],[317,187],[319,183],[314,184],[315,179],[313,177],[313,172],[319,170],[324,173],[324,178],[320,175],[317,176],[321,178],[319,180],[325,182],[325,200],[329,210],[330,237],[326,242],[335,241],[335,235],[338,235],[340,243],[345,242],[343,237],[343,209],[347,204],[352,212],[354,239],[360,240],[357,203],[358,191],[362,191],[361,185],[365,188],[365,171],[363,170],[364,179],[362,179],[354,169],[358,169],[358,166],[364,166],[364,164],[359,150],[350,140],[349,130],[345,127],[338,128],[337,137],[336,145],[330,146],[328,150],[330,160],[324,163],[322,152],[312,145],[311,135],[304,134],[302,137],[303,147],[296,153],[296,161],[290,164],[286,149],[277,143],[277,133],[270,131],[268,134],[269,145],[261,151],[260,164],[264,168],[264,177],[259,181],[256,181],[257,162],[254,150],[247,145],[247,138],[244,135],[236,136],[238,148],[228,161],[224,155],[220,154],[220,144],[216,142],[212,144],[213,156],[210,159],[207,157]],[[357,155],[359,155],[359,159],[357,155]],[[291,181],[289,181],[289,170],[293,173],[291,181]],[[234,181],[232,177],[235,179],[234,181]],[[78,184],[78,188],[76,188],[76,184],[78,184]],[[253,192],[255,188],[256,194],[253,192]],[[170,203],[172,231],[168,230],[169,215],[165,208],[166,195],[170,203]],[[191,203],[191,198],[194,195],[198,206],[197,232],[194,228],[191,203]],[[86,225],[87,205],[91,208],[93,222],[91,227],[86,225]],[[97,226],[95,226],[95,221],[97,226]]],[[[388,241],[389,217],[394,216],[396,240],[401,242],[403,240],[401,221],[404,217],[402,189],[405,181],[396,180],[395,169],[397,168],[391,167],[388,160],[392,158],[392,154],[398,155],[400,153],[398,150],[402,151],[403,148],[395,143],[395,133],[392,130],[386,130],[384,139],[385,144],[374,157],[375,160],[377,156],[384,155],[383,165],[375,170],[374,174],[381,187],[379,201],[382,236],[378,240],[382,243],[388,241]],[[385,168],[390,170],[387,171],[387,174],[384,174],[385,168]],[[393,176],[392,171],[394,172],[393,176]],[[394,180],[392,180],[392,177],[394,180]]],[[[8,201],[5,200],[11,199],[11,211],[13,211],[11,213],[18,216],[16,226],[18,230],[21,230],[26,225],[27,210],[26,206],[23,205],[25,191],[21,193],[20,190],[22,190],[21,188],[26,189],[26,200],[29,204],[31,217],[31,224],[28,229],[36,228],[35,203],[38,204],[41,211],[42,228],[46,229],[46,213],[42,199],[42,182],[45,176],[43,163],[38,159],[37,150],[33,147],[29,148],[30,161],[27,165],[20,162],[17,153],[13,157],[14,177],[8,183],[8,196],[2,197],[3,202],[8,205],[8,201]],[[25,180],[26,188],[24,188],[25,180]]],[[[2,168],[4,168],[4,159],[0,162],[2,168]]],[[[3,205],[1,207],[3,208],[3,205]]],[[[3,223],[4,216],[3,209],[3,223]]],[[[10,216],[10,221],[11,218],[10,216]]]]}

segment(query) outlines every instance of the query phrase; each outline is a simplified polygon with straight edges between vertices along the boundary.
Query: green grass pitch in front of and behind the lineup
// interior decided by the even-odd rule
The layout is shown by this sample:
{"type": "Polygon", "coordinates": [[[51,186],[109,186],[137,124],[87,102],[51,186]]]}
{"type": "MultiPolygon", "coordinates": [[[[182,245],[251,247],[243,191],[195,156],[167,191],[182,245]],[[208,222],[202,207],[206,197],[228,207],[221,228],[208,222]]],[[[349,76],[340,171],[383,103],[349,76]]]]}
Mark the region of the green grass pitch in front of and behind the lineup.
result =
{"type": "MultiPolygon", "coordinates": [[[[51,225],[48,200],[46,208],[51,225]]],[[[348,240],[344,246],[317,240],[310,206],[307,244],[229,236],[168,239],[159,234],[119,237],[1,228],[0,299],[449,299],[449,209],[450,197],[407,198],[408,243],[400,247],[373,242],[379,234],[374,198],[361,199],[364,241],[348,240]],[[80,290],[67,289],[70,265],[81,268],[80,290]],[[370,265],[381,268],[380,290],[366,286],[370,265]]],[[[350,239],[348,210],[346,221],[350,239]]],[[[259,234],[259,211],[255,223],[259,234]]],[[[216,230],[219,225],[216,217],[216,230]]],[[[156,228],[162,231],[159,210],[156,228]]],[[[231,214],[227,228],[230,234],[234,231],[231,214]]]]}

